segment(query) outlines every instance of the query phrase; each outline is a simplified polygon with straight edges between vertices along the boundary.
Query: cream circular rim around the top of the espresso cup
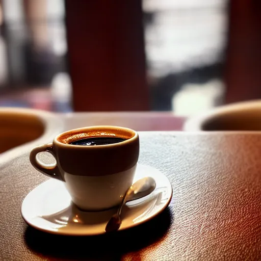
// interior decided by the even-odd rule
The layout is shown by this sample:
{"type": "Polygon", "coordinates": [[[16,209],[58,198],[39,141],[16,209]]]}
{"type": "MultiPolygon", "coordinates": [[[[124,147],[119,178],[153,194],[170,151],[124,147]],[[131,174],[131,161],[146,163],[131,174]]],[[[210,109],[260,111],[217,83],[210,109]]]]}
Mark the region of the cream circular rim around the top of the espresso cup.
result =
{"type": "Polygon", "coordinates": [[[63,132],[58,134],[55,138],[54,138],[54,143],[62,146],[64,148],[77,148],[77,149],[100,149],[100,148],[111,148],[111,147],[118,147],[118,146],[122,146],[123,144],[128,144],[133,142],[134,140],[136,140],[138,138],[138,133],[136,131],[134,131],[134,129],[131,128],[126,128],[126,127],[120,127],[120,126],[114,126],[114,125],[94,125],[94,126],[87,126],[87,127],[80,127],[80,128],[74,128],[74,129],[70,129],[69,131],[63,132]],[[95,128],[109,128],[113,130],[116,129],[121,129],[125,132],[128,133],[132,133],[133,136],[129,139],[126,139],[122,142],[118,142],[118,143],[113,143],[113,144],[104,144],[104,145],[99,145],[99,146],[83,146],[83,145],[75,145],[75,144],[68,144],[68,143],[63,143],[61,141],[59,141],[58,139],[62,136],[65,135],[72,135],[73,133],[79,132],[79,131],[88,131],[88,130],[93,130],[95,128]]]}

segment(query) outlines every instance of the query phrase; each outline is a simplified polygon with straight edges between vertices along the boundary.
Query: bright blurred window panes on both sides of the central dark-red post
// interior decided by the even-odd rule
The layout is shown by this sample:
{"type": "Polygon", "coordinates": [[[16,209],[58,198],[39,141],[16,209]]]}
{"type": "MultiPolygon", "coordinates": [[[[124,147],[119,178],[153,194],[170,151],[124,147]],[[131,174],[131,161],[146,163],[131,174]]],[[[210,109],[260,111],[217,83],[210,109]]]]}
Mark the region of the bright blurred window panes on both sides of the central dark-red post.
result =
{"type": "MultiPolygon", "coordinates": [[[[64,0],[0,3],[0,106],[71,111],[64,0]]],[[[227,6],[142,1],[150,110],[193,115],[223,103],[227,6]]]]}

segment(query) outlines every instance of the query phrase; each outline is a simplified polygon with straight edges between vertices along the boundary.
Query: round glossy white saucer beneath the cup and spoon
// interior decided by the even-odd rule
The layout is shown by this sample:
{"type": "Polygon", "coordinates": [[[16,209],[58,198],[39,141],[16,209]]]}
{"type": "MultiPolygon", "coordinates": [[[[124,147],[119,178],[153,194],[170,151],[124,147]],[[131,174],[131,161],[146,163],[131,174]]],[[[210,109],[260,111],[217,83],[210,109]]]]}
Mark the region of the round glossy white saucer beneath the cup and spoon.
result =
{"type": "MultiPolygon", "coordinates": [[[[170,203],[172,187],[169,179],[152,167],[137,166],[134,181],[151,176],[155,190],[146,197],[130,201],[122,210],[119,230],[137,226],[161,213],[170,203]]],[[[105,233],[105,226],[116,208],[101,212],[83,212],[73,203],[64,183],[49,179],[31,191],[23,200],[21,214],[31,226],[54,234],[92,236],[105,233]]]]}

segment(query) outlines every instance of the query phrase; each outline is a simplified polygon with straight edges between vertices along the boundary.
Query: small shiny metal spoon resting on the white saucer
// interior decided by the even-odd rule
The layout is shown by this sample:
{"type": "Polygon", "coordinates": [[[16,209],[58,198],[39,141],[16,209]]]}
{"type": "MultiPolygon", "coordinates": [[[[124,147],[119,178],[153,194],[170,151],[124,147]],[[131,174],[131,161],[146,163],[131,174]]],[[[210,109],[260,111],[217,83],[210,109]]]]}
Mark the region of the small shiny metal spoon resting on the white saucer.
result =
{"type": "Polygon", "coordinates": [[[111,219],[108,221],[105,231],[111,232],[116,231],[120,228],[121,225],[121,210],[122,206],[125,205],[127,201],[133,200],[133,198],[141,198],[150,194],[156,187],[156,182],[152,177],[144,177],[137,180],[125,193],[121,204],[119,205],[118,211],[114,214],[111,219]]]}

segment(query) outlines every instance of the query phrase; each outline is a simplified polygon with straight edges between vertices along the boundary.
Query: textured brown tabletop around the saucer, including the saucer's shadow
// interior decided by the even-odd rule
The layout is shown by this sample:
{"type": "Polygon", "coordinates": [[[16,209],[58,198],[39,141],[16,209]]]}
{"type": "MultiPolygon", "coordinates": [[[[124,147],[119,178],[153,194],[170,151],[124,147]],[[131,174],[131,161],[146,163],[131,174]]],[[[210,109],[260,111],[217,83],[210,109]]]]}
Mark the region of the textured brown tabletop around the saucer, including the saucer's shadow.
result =
{"type": "Polygon", "coordinates": [[[173,198],[158,217],[96,237],[48,234],[20,215],[47,179],[29,151],[0,167],[0,260],[260,260],[261,136],[140,132],[139,162],[161,170],[173,198]]]}

